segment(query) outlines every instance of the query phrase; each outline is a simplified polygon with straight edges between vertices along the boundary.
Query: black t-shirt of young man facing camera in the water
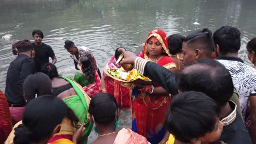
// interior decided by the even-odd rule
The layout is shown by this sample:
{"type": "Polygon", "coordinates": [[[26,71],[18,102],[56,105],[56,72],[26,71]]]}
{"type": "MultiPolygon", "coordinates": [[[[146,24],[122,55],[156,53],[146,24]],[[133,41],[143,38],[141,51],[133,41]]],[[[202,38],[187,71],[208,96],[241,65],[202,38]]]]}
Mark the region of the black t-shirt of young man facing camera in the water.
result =
{"type": "Polygon", "coordinates": [[[41,71],[42,66],[45,63],[49,63],[49,57],[53,58],[55,56],[53,49],[49,45],[42,43],[40,46],[34,46],[34,62],[36,62],[36,71],[41,71]]]}

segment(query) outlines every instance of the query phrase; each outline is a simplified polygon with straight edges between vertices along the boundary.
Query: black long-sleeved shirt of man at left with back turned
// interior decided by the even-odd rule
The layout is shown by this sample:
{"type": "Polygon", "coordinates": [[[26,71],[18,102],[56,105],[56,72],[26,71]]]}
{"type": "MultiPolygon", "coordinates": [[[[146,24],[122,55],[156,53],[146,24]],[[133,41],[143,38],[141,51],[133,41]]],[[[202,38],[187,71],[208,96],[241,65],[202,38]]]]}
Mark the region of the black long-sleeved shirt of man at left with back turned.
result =
{"type": "Polygon", "coordinates": [[[24,104],[23,82],[28,75],[34,74],[34,60],[26,55],[19,55],[7,71],[5,97],[10,104],[24,104]]]}

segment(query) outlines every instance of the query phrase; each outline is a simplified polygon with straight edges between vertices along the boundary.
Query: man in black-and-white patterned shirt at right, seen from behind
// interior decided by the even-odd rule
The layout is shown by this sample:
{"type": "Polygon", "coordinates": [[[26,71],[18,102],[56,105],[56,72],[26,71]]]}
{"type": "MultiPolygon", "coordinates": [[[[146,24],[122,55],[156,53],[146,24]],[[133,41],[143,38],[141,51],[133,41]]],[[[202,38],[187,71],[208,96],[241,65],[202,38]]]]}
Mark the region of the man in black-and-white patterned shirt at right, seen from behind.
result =
{"type": "Polygon", "coordinates": [[[250,134],[256,143],[256,70],[243,63],[238,57],[241,46],[240,31],[231,26],[223,26],[213,33],[216,45],[217,60],[229,70],[234,87],[239,93],[241,111],[246,121],[246,109],[248,103],[251,107],[250,134]]]}

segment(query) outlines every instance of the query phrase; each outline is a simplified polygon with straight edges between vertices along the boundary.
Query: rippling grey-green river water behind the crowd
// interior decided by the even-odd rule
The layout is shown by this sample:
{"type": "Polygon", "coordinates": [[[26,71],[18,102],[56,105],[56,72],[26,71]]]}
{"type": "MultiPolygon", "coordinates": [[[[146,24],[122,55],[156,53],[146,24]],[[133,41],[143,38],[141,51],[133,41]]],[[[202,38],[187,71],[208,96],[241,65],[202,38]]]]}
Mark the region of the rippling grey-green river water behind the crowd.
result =
{"type": "MultiPolygon", "coordinates": [[[[11,43],[32,40],[32,31],[44,33],[43,43],[53,47],[60,73],[73,77],[76,70],[65,40],[91,48],[102,68],[116,47],[140,52],[150,30],[163,29],[167,35],[188,35],[196,29],[215,31],[225,25],[238,27],[246,56],[246,43],[256,35],[256,1],[254,0],[0,0],[0,89],[4,91],[9,63],[15,59],[11,43]],[[194,25],[197,22],[200,25],[194,25]]],[[[121,111],[121,127],[130,127],[130,110],[121,111]]],[[[95,135],[90,136],[90,141],[95,135]]]]}

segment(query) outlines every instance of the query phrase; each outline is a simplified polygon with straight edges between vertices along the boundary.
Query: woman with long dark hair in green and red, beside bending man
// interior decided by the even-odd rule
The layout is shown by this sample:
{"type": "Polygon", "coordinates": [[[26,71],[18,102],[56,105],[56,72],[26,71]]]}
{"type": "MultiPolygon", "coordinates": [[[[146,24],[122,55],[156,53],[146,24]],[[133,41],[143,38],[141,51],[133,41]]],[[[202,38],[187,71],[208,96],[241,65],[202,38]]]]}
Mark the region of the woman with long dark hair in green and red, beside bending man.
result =
{"type": "Polygon", "coordinates": [[[78,63],[81,66],[81,70],[75,74],[74,81],[79,83],[89,97],[92,98],[95,94],[101,92],[100,76],[92,68],[92,63],[87,56],[81,56],[78,63]]]}

